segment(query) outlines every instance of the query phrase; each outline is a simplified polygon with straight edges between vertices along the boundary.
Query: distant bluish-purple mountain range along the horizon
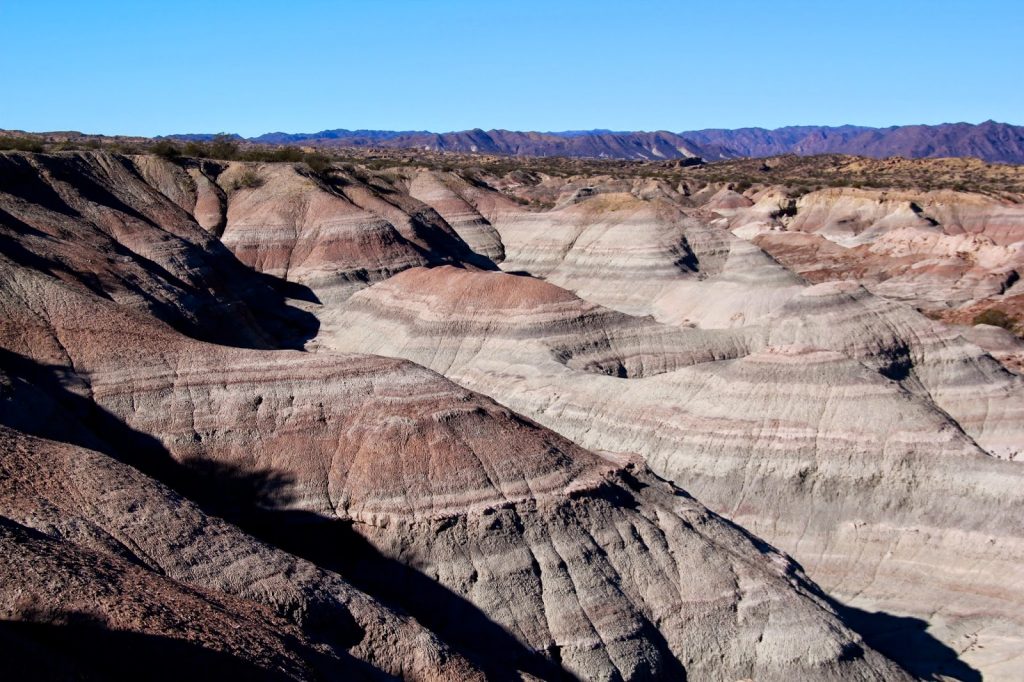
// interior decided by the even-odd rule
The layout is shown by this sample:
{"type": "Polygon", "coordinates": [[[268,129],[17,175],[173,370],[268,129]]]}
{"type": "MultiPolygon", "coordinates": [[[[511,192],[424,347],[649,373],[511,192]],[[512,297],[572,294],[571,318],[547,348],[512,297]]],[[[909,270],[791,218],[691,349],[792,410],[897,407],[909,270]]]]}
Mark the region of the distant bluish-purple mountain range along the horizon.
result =
{"type": "MultiPolygon", "coordinates": [[[[213,135],[170,135],[176,139],[204,139],[213,135]]],[[[313,146],[378,146],[530,157],[607,159],[685,159],[708,161],[782,154],[853,154],[866,157],[977,157],[997,163],[1024,163],[1024,126],[986,121],[980,124],[945,123],[935,126],[790,126],[709,129],[687,132],[615,132],[573,130],[519,132],[463,130],[434,133],[425,130],[322,130],[315,133],[273,132],[242,138],[265,144],[313,146]]]]}

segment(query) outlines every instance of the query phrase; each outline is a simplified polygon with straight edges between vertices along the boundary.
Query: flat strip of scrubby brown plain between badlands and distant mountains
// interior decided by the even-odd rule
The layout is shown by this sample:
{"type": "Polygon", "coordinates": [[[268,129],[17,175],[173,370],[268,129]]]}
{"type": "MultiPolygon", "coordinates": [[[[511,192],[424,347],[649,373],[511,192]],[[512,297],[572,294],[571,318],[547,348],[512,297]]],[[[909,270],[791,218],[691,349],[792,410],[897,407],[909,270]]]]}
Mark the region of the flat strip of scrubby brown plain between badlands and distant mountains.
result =
{"type": "MultiPolygon", "coordinates": [[[[6,134],[0,148],[26,152],[74,151],[101,147],[122,154],[153,153],[177,159],[302,163],[321,175],[332,163],[352,164],[370,172],[395,168],[426,168],[472,177],[529,175],[570,179],[606,176],[612,179],[650,179],[673,187],[695,190],[708,184],[731,186],[739,193],[767,186],[790,187],[790,197],[826,187],[889,189],[954,189],[982,193],[1021,202],[1024,166],[986,164],[977,159],[869,159],[845,155],[769,159],[735,159],[701,163],[698,160],[639,161],[565,157],[511,157],[459,154],[427,150],[332,147],[310,151],[295,145],[255,144],[230,135],[208,140],[151,140],[142,137],[106,137],[81,133],[6,134]]],[[[519,180],[515,180],[519,182],[519,180]]]]}

